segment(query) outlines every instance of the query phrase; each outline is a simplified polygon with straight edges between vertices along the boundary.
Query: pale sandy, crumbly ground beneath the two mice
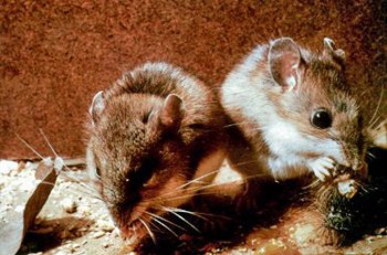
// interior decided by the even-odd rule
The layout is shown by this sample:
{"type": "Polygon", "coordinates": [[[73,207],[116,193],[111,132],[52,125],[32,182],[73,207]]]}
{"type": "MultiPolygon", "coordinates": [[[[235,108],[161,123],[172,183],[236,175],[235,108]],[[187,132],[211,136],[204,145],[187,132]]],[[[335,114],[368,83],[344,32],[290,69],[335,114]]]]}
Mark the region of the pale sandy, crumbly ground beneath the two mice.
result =
{"type": "MultiPolygon", "coordinates": [[[[12,212],[20,211],[34,189],[36,162],[0,161],[0,232],[12,212]]],[[[240,188],[240,178],[227,166],[206,198],[196,198],[207,220],[188,219],[200,233],[181,223],[181,230],[159,233],[133,249],[109,222],[103,202],[90,190],[86,171],[62,171],[44,208],[18,254],[386,254],[386,229],[375,230],[346,246],[333,246],[320,235],[321,219],[303,206],[297,183],[274,184],[270,198],[254,213],[236,213],[224,201],[240,188]],[[224,193],[224,185],[228,193],[224,193]],[[205,205],[203,205],[205,204],[205,205]],[[233,210],[233,211],[232,211],[233,210]]],[[[190,205],[188,205],[190,206],[190,205]]],[[[171,219],[172,221],[177,220],[171,219]]],[[[0,251],[1,254],[1,251],[0,251]]]]}

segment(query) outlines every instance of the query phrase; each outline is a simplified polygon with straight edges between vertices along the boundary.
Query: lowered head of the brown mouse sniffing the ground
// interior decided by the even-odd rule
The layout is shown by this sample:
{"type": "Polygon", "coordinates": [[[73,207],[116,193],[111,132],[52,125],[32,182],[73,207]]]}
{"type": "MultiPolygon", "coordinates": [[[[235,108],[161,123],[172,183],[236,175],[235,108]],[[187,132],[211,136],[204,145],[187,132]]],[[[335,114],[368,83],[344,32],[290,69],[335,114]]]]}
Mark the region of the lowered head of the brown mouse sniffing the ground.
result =
{"type": "Polygon", "coordinates": [[[139,241],[151,235],[151,219],[189,198],[179,138],[185,106],[175,94],[96,94],[90,109],[88,170],[122,236],[139,241]]]}

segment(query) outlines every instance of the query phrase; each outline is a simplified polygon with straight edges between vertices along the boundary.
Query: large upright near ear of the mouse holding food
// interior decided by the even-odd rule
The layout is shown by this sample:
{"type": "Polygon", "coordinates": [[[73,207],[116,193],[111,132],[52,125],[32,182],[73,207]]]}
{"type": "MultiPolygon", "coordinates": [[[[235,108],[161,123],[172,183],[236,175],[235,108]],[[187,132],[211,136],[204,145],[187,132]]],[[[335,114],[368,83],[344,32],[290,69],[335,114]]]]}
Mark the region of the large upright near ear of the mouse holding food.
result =
{"type": "Polygon", "coordinates": [[[290,38],[275,40],[269,49],[269,66],[273,79],[287,91],[301,82],[302,57],[300,49],[290,38]]]}

